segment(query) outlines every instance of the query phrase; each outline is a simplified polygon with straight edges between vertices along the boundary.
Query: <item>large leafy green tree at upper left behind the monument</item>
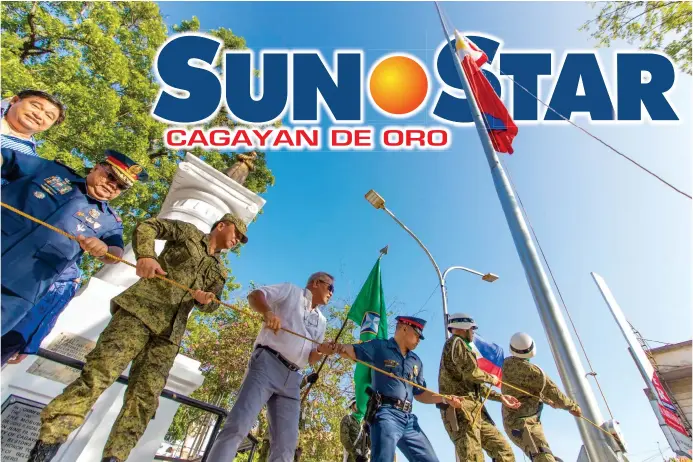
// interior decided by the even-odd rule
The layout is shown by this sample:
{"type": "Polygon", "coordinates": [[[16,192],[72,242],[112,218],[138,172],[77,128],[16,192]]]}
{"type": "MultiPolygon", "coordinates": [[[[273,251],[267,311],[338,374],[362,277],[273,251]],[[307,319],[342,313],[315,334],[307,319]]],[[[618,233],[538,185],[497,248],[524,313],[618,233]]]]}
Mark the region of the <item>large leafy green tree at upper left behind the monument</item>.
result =
{"type": "MultiPolygon", "coordinates": [[[[156,216],[171,184],[181,151],[163,147],[166,126],[150,111],[160,90],[152,73],[157,49],[168,35],[153,2],[2,2],[2,96],[25,88],[57,94],[68,106],[67,119],[39,134],[38,152],[86,173],[102,159],[105,149],[120,150],[149,172],[151,181],[135,185],[111,205],[123,219],[125,242],[134,226],[156,216]]],[[[171,32],[199,30],[193,17],[171,32]]],[[[230,29],[210,32],[225,48],[245,48],[245,40],[230,29]]],[[[233,123],[225,112],[219,125],[233,123]]],[[[214,168],[226,170],[235,161],[232,152],[195,150],[214,168]]],[[[263,193],[274,184],[264,153],[246,187],[263,193]]],[[[101,263],[83,259],[86,275],[101,263]]],[[[229,279],[227,289],[237,286],[229,279]]]]}

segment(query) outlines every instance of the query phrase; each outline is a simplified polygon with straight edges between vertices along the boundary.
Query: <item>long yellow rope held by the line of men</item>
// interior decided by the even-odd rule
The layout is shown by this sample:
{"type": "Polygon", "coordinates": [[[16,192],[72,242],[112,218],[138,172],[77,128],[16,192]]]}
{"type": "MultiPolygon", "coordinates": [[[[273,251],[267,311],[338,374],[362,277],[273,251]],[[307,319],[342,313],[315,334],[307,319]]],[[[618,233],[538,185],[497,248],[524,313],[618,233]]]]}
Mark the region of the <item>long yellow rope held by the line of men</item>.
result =
{"type": "MultiPolygon", "coordinates": [[[[50,229],[50,230],[53,230],[53,231],[55,231],[56,233],[58,233],[58,234],[60,234],[60,235],[62,235],[62,236],[64,236],[64,237],[66,237],[66,238],[68,238],[68,239],[70,239],[70,240],[73,240],[73,241],[75,241],[75,242],[79,242],[79,240],[78,240],[75,236],[73,236],[72,234],[66,233],[66,232],[63,231],[62,229],[56,228],[56,227],[53,226],[53,225],[50,225],[50,224],[48,224],[48,223],[46,223],[46,222],[44,222],[44,221],[41,221],[41,220],[39,220],[38,218],[35,218],[35,217],[33,217],[33,216],[31,216],[31,215],[29,215],[29,214],[27,214],[27,213],[22,212],[21,210],[15,208],[15,207],[12,207],[11,205],[5,204],[4,202],[0,202],[0,206],[5,207],[5,208],[8,209],[8,210],[11,210],[12,212],[14,212],[14,213],[16,213],[16,214],[18,214],[18,215],[21,215],[22,217],[24,217],[24,218],[26,218],[26,219],[28,219],[28,220],[31,220],[31,221],[33,221],[34,223],[37,223],[37,224],[39,224],[39,225],[41,225],[41,226],[45,226],[46,228],[48,228],[48,229],[50,229]]],[[[112,255],[112,254],[110,254],[110,253],[108,253],[108,252],[106,252],[106,254],[104,255],[104,257],[108,257],[108,258],[111,259],[111,260],[115,260],[115,261],[118,261],[118,262],[120,262],[120,263],[125,263],[125,264],[128,265],[128,266],[131,266],[131,267],[133,267],[133,268],[137,268],[137,265],[135,265],[135,264],[133,264],[133,263],[130,263],[130,262],[127,261],[127,260],[123,260],[123,259],[120,258],[120,257],[116,257],[115,255],[112,255]]],[[[184,285],[182,285],[182,284],[180,284],[180,283],[178,283],[178,282],[176,282],[176,281],[174,281],[174,280],[172,280],[172,279],[169,279],[169,278],[167,278],[167,277],[164,277],[164,276],[162,276],[162,275],[160,275],[160,274],[157,274],[155,277],[161,279],[162,281],[166,281],[166,282],[168,282],[169,284],[171,284],[171,285],[173,285],[173,286],[175,286],[175,287],[178,287],[178,288],[180,288],[180,289],[182,289],[182,290],[185,290],[186,292],[190,293],[191,295],[194,293],[194,291],[193,291],[192,289],[190,289],[189,287],[186,287],[186,286],[184,286],[184,285]]],[[[231,305],[231,304],[229,304],[229,303],[225,303],[225,302],[219,300],[216,296],[214,297],[214,300],[213,300],[213,301],[219,303],[220,305],[224,305],[224,306],[226,306],[226,307],[228,307],[228,308],[231,308],[232,310],[237,311],[237,312],[239,312],[239,313],[242,313],[242,314],[245,314],[245,315],[249,315],[249,316],[256,316],[255,313],[253,313],[253,312],[251,312],[251,311],[248,311],[248,310],[244,310],[244,309],[242,309],[242,308],[238,308],[237,306],[231,305]]],[[[284,328],[284,327],[282,327],[281,330],[283,330],[284,332],[287,332],[287,333],[289,333],[289,334],[291,334],[291,335],[295,335],[295,336],[297,336],[297,337],[300,337],[300,338],[302,338],[302,339],[304,339],[304,340],[307,340],[307,341],[309,341],[309,342],[311,342],[311,343],[314,343],[314,344],[316,344],[316,345],[320,345],[320,342],[318,342],[317,340],[313,340],[312,338],[308,338],[308,337],[306,337],[306,336],[304,336],[304,335],[299,334],[298,332],[294,332],[294,331],[292,331],[292,330],[290,330],[290,329],[286,329],[286,328],[284,328]]],[[[353,359],[352,359],[352,358],[349,358],[349,359],[351,359],[352,361],[354,361],[354,362],[356,362],[356,363],[358,363],[358,364],[363,364],[364,366],[368,367],[369,369],[373,369],[374,371],[380,372],[380,373],[383,374],[383,375],[386,375],[386,376],[391,377],[391,378],[396,379],[396,380],[400,380],[401,382],[404,382],[404,383],[406,383],[407,385],[411,385],[412,387],[418,388],[418,389],[423,390],[423,391],[427,391],[427,392],[431,393],[433,396],[441,396],[441,397],[446,398],[446,399],[450,399],[450,398],[451,398],[451,396],[449,396],[449,395],[443,395],[443,394],[440,394],[440,393],[435,392],[435,391],[433,391],[433,390],[429,390],[428,388],[426,388],[426,387],[424,387],[424,386],[421,386],[421,385],[419,385],[418,383],[412,382],[412,381],[407,380],[407,379],[405,379],[405,378],[403,378],[403,377],[398,377],[398,376],[396,376],[395,374],[392,374],[392,373],[390,373],[390,372],[384,371],[384,370],[380,369],[379,367],[376,367],[376,366],[374,366],[374,365],[372,365],[372,364],[370,364],[370,363],[361,361],[361,360],[356,359],[356,358],[353,358],[353,359]]],[[[530,392],[528,392],[528,391],[526,391],[526,390],[523,390],[522,388],[516,387],[516,386],[511,385],[511,384],[509,384],[509,383],[507,383],[507,382],[502,382],[502,384],[503,384],[503,385],[506,385],[506,386],[508,386],[508,387],[510,387],[510,388],[512,388],[512,389],[514,389],[514,390],[517,390],[517,391],[519,391],[520,393],[524,393],[524,394],[527,395],[527,396],[531,396],[532,398],[536,398],[536,399],[538,399],[538,400],[541,401],[541,398],[540,398],[540,397],[535,396],[535,395],[533,395],[532,393],[530,393],[530,392]]],[[[491,393],[490,390],[491,390],[491,388],[489,387],[489,391],[487,392],[487,397],[488,397],[488,394],[491,393]]],[[[484,401],[485,401],[485,399],[484,399],[484,401]]],[[[482,407],[483,407],[483,403],[482,403],[482,407]]],[[[598,428],[598,429],[601,430],[602,432],[606,433],[607,435],[609,435],[609,436],[611,436],[612,438],[615,439],[615,437],[614,437],[611,433],[607,432],[606,430],[604,430],[603,428],[601,428],[599,425],[595,424],[594,422],[592,422],[592,421],[589,420],[588,418],[586,418],[586,417],[584,417],[584,416],[580,416],[580,418],[583,419],[584,421],[586,421],[587,423],[591,424],[591,425],[594,426],[595,428],[598,428]]]]}

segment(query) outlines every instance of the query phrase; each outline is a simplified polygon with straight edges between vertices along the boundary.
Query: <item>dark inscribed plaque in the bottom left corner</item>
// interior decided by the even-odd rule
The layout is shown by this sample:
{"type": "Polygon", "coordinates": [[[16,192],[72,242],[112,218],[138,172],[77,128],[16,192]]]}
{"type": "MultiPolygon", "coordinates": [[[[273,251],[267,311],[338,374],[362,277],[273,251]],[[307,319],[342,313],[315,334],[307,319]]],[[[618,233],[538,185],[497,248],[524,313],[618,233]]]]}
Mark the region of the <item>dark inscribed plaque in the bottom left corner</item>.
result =
{"type": "Polygon", "coordinates": [[[2,461],[26,462],[38,439],[45,405],[10,395],[2,405],[2,461]]]}

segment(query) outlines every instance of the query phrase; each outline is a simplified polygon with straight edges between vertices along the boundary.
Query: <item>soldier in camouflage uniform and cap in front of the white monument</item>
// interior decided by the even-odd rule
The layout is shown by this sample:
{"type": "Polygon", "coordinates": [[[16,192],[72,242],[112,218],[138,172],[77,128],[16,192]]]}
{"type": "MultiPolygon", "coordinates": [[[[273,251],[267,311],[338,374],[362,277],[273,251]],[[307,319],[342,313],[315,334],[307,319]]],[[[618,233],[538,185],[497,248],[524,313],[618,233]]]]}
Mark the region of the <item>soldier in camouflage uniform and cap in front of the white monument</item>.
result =
{"type": "Polygon", "coordinates": [[[221,297],[227,277],[220,252],[248,242],[246,231],[245,223],[230,213],[209,234],[189,223],[158,218],[135,228],[132,246],[142,279],[111,300],[113,317],[87,355],[80,377],[43,409],[30,462],[51,460],[132,361],[123,408],[103,451],[106,462],[128,458],[154,416],[190,311],[195,305],[205,312],[219,307],[215,297],[221,297]],[[158,257],[156,239],[167,241],[158,257]],[[155,278],[158,274],[193,289],[194,295],[155,278]]]}

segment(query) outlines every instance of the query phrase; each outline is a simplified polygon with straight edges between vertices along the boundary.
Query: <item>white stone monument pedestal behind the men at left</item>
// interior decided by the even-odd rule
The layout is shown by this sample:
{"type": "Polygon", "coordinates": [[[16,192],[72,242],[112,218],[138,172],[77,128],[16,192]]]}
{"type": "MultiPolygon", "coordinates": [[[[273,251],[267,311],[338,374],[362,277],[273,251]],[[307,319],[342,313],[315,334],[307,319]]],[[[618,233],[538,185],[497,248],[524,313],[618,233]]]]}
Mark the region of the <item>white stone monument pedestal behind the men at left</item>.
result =
{"type": "MultiPolygon", "coordinates": [[[[209,232],[212,225],[228,212],[250,223],[264,204],[265,200],[252,191],[192,154],[187,154],[185,161],[178,166],[158,217],[186,221],[209,232]]],[[[163,241],[157,241],[157,253],[161,252],[163,245],[163,241]]],[[[126,247],[123,258],[135,261],[131,246],[126,247]]],[[[94,347],[111,318],[111,298],[137,279],[135,270],[125,264],[105,265],[72,299],[41,347],[84,361],[84,356],[94,347]]],[[[189,396],[202,385],[203,377],[199,368],[198,361],[178,355],[166,388],[189,396]]],[[[124,374],[129,374],[129,366],[124,374]]],[[[38,436],[40,410],[77,375],[74,369],[36,356],[2,369],[3,461],[23,462],[28,459],[38,436]]],[[[124,393],[125,385],[117,382],[106,390],[87,414],[84,424],[70,435],[53,460],[101,460],[111,426],[120,412],[124,393]]],[[[128,462],[154,459],[178,406],[174,401],[160,399],[154,419],[130,453],[128,462]]]]}

